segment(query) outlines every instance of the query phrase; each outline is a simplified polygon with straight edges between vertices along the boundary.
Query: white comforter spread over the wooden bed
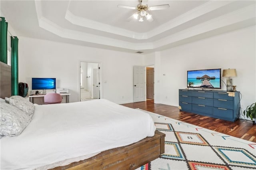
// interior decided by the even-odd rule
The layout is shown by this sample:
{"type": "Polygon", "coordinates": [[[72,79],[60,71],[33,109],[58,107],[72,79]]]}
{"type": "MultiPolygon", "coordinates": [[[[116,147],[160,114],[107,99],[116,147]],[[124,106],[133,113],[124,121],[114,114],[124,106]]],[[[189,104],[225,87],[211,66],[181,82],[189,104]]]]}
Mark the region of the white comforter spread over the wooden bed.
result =
{"type": "Polygon", "coordinates": [[[156,128],[147,113],[105,99],[36,105],[22,134],[1,142],[1,170],[48,169],[126,146],[156,128]]]}

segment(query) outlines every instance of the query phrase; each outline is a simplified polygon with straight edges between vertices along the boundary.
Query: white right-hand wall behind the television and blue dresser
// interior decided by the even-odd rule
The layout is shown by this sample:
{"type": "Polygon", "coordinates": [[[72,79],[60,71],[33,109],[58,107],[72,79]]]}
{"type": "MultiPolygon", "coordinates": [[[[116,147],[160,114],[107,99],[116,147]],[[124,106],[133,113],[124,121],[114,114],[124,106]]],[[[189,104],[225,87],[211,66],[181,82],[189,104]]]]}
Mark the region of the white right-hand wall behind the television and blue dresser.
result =
{"type": "MultiPolygon", "coordinates": [[[[155,55],[155,103],[178,106],[178,89],[186,88],[187,70],[215,68],[236,69],[233,85],[242,93],[242,109],[256,102],[255,36],[253,26],[145,55],[145,63],[152,63],[155,55]]],[[[222,89],[226,90],[224,83],[222,89]]]]}

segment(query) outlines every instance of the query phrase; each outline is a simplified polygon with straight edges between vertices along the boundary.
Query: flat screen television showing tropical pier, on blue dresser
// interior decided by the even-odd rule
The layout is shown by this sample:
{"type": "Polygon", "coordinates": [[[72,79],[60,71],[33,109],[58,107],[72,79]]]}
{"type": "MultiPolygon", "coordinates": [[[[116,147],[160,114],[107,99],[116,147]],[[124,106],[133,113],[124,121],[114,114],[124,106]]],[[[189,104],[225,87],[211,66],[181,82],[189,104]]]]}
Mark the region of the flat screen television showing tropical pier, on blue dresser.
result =
{"type": "Polygon", "coordinates": [[[187,87],[221,89],[221,69],[187,71],[187,87]]]}

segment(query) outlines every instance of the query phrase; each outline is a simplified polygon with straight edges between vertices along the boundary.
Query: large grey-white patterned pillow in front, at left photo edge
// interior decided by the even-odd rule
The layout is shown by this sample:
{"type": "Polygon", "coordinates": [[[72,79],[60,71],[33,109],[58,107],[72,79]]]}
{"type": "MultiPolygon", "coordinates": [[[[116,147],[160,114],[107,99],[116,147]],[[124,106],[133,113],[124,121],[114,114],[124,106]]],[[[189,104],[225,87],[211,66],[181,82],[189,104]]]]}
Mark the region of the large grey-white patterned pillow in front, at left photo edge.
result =
{"type": "Polygon", "coordinates": [[[0,138],[18,136],[31,121],[26,113],[8,103],[1,103],[0,109],[0,138]]]}

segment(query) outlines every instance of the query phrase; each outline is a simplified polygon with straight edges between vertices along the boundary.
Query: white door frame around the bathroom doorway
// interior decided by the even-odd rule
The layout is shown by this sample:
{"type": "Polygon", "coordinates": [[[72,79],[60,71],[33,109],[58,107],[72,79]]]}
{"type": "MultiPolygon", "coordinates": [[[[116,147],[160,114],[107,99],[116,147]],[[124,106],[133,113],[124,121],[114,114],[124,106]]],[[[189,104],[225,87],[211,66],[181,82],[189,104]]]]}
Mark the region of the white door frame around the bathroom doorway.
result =
{"type": "Polygon", "coordinates": [[[100,65],[100,70],[99,70],[99,81],[100,81],[100,99],[103,99],[103,64],[101,61],[88,61],[88,60],[79,60],[78,61],[78,101],[81,100],[81,88],[80,88],[80,63],[85,62],[85,63],[98,63],[100,65]]]}

